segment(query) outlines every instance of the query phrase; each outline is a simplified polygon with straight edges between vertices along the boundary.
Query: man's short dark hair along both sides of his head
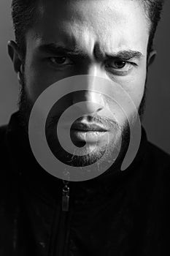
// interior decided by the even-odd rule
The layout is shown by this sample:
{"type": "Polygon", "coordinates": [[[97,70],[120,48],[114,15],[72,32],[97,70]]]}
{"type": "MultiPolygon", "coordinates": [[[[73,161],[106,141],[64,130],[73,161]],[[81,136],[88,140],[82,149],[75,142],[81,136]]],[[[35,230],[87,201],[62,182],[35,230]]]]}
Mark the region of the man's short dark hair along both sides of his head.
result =
{"type": "MultiPolygon", "coordinates": [[[[26,32],[34,26],[37,18],[37,8],[40,0],[12,0],[12,21],[15,30],[15,41],[25,55],[26,53],[26,32]]],[[[158,21],[161,19],[161,10],[164,0],[138,0],[144,6],[144,11],[150,20],[150,37],[147,46],[147,53],[152,50],[155,31],[158,21]]]]}

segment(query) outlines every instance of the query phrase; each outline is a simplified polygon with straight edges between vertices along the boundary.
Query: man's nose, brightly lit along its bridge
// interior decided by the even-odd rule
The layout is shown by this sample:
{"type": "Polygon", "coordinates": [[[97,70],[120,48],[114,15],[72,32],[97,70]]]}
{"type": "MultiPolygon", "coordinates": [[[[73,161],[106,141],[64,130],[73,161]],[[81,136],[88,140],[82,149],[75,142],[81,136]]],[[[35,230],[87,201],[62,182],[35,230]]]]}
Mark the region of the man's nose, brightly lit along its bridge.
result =
{"type": "Polygon", "coordinates": [[[82,76],[85,85],[83,90],[74,91],[72,104],[83,102],[78,108],[84,115],[97,113],[104,108],[104,96],[100,93],[101,85],[98,84],[98,79],[96,79],[98,76],[101,76],[101,72],[98,71],[97,67],[91,67],[82,76]]]}

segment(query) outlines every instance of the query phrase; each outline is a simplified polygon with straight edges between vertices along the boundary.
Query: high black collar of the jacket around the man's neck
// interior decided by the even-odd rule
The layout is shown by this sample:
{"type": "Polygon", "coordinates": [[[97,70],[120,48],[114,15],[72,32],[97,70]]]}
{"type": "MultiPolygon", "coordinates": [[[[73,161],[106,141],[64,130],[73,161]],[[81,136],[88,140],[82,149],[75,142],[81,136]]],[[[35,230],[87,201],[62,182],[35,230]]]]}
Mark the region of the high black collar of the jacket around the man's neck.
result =
{"type": "MultiPolygon", "coordinates": [[[[19,113],[14,113],[9,121],[6,132],[6,146],[12,159],[12,169],[16,175],[20,176],[22,182],[29,188],[42,195],[47,201],[54,202],[61,196],[63,181],[47,173],[36,162],[29,146],[28,137],[20,126],[19,113]]],[[[121,186],[122,182],[128,179],[136,172],[144,161],[147,147],[147,135],[142,127],[142,140],[139,151],[136,154],[134,162],[125,170],[121,171],[117,165],[117,170],[110,170],[90,181],[81,181],[69,183],[70,195],[78,191],[78,197],[90,197],[92,195],[106,194],[114,186],[121,186]]]]}

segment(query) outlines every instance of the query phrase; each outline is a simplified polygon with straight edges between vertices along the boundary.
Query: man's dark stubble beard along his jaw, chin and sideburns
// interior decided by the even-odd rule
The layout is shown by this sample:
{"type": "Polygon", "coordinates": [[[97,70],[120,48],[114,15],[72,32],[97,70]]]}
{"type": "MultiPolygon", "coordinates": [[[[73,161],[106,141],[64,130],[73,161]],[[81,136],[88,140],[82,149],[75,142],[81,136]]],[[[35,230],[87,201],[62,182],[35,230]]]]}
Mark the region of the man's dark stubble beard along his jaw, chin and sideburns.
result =
{"type": "MultiPolygon", "coordinates": [[[[139,106],[139,118],[142,121],[145,107],[145,98],[146,98],[146,86],[144,89],[144,95],[142,97],[142,102],[139,106]]],[[[28,95],[26,93],[26,80],[23,79],[23,86],[20,89],[20,96],[18,101],[19,108],[19,117],[20,117],[20,125],[23,128],[23,132],[28,137],[28,124],[29,117],[31,115],[31,110],[34,104],[28,99],[28,95]]],[[[125,151],[128,149],[128,144],[130,141],[130,128],[128,121],[125,121],[125,124],[120,126],[115,123],[115,138],[111,140],[108,144],[96,148],[96,151],[91,152],[90,154],[85,154],[83,156],[77,156],[76,151],[75,154],[69,154],[66,152],[61,146],[60,143],[55,143],[53,146],[53,133],[49,135],[47,138],[47,143],[50,146],[51,151],[61,162],[66,165],[76,166],[76,167],[87,167],[88,165],[92,165],[98,162],[98,165],[105,165],[109,162],[115,162],[116,164],[121,163],[123,161],[123,156],[125,155],[125,151]],[[56,146],[58,145],[58,146],[56,146]]],[[[55,138],[57,140],[57,138],[55,138]]]]}

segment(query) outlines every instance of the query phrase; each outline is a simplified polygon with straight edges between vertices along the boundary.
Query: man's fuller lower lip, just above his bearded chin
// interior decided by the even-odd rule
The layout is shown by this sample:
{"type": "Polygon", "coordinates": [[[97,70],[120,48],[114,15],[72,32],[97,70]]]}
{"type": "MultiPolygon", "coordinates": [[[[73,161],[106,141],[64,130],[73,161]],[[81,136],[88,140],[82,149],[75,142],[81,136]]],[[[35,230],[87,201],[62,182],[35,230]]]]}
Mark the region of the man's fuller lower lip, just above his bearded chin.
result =
{"type": "Polygon", "coordinates": [[[75,141],[86,141],[96,143],[97,140],[100,140],[107,132],[98,132],[98,131],[80,131],[77,129],[71,129],[71,138],[75,141]]]}

